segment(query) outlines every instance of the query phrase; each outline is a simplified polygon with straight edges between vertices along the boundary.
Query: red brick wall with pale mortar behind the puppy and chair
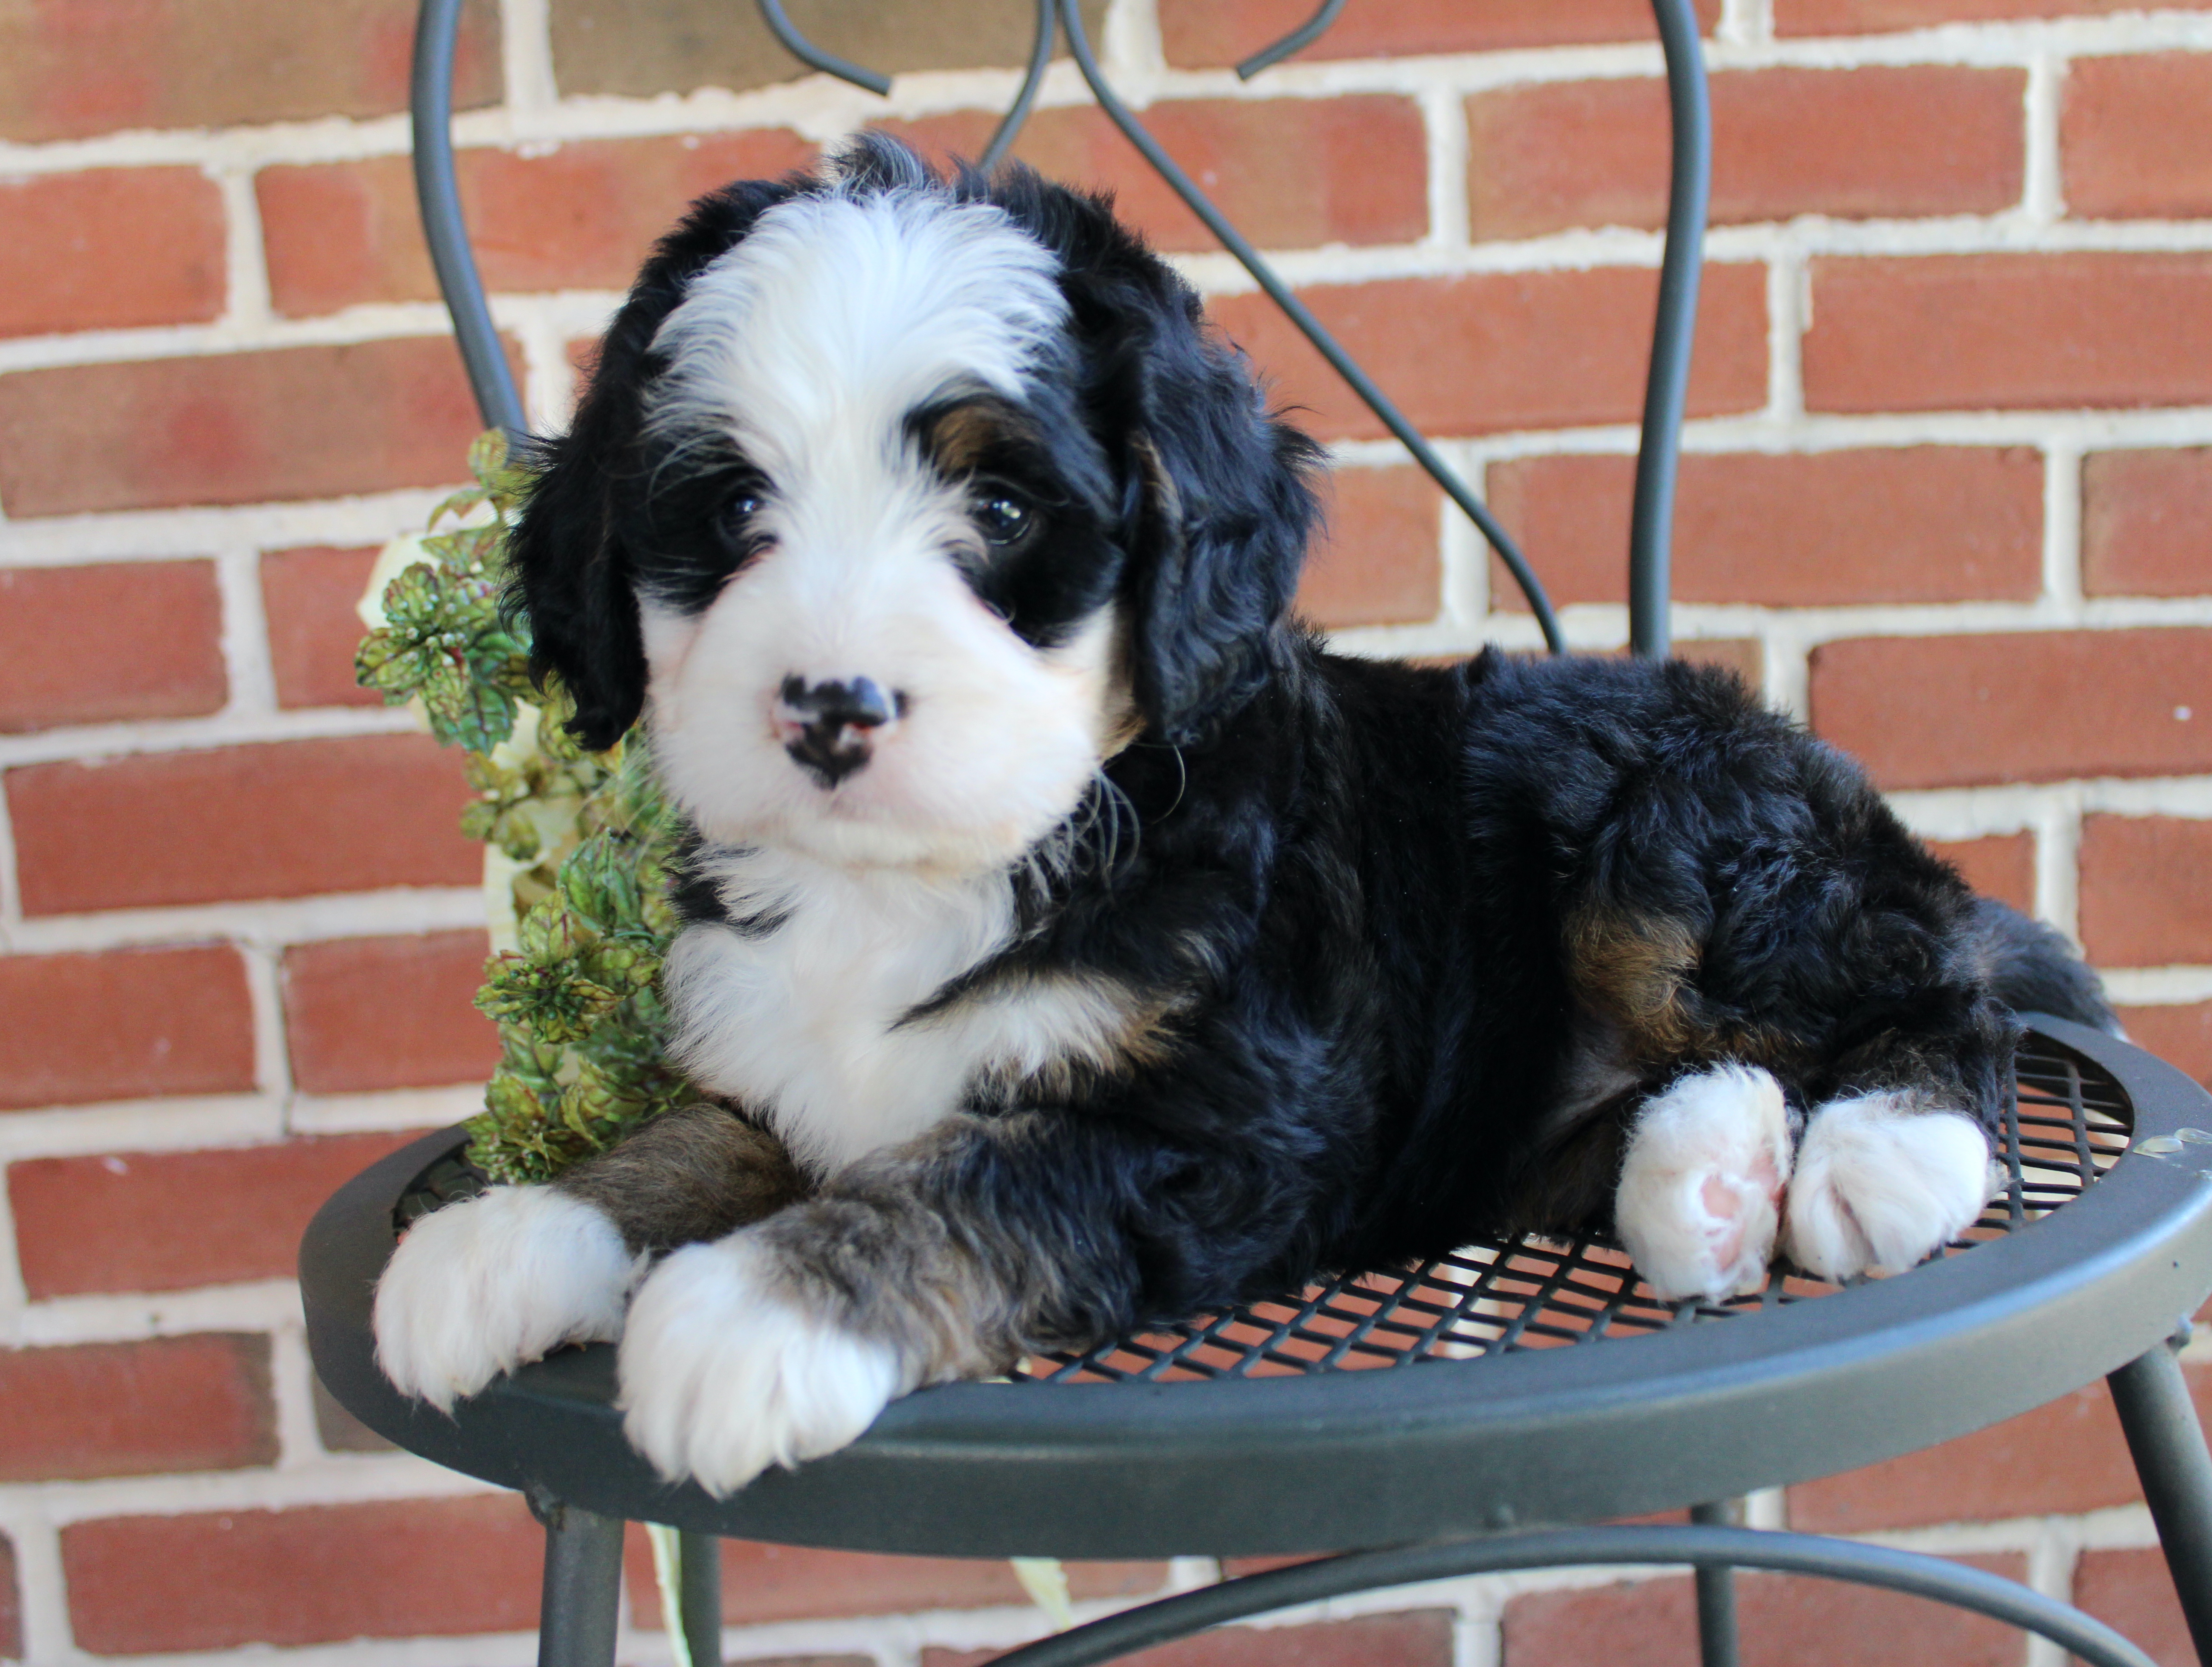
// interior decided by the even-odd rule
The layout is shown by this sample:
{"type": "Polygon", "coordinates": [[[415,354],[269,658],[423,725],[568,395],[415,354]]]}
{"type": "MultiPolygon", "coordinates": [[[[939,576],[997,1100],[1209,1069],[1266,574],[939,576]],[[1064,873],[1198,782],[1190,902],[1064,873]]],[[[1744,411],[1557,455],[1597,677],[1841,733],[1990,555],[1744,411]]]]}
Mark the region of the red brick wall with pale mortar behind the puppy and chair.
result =
{"type": "MultiPolygon", "coordinates": [[[[980,148],[1029,7],[792,11],[894,95],[801,75],[741,0],[469,7],[462,195],[538,420],[688,195],[858,122],[980,148]]],[[[1617,648],[1663,203],[1648,7],[1354,0],[1307,62],[1225,73],[1307,11],[1088,7],[1157,133],[1524,533],[1575,643],[1617,648]]],[[[1681,648],[1856,747],[2212,1074],[2212,7],[1701,15],[1681,648]]],[[[407,188],[409,31],[407,0],[0,7],[0,1658],[529,1658],[535,1530],[323,1399],[288,1285],[314,1203],[465,1114],[491,1061],[458,769],[349,679],[374,551],[476,427],[407,188]]],[[[1115,184],[1334,444],[1312,612],[1374,652],[1535,643],[1066,69],[1024,153],[1115,184]]],[[[1911,1534],[2190,1658],[2097,1393],[1756,1512],[1911,1534]]],[[[630,1592],[648,1667],[637,1559],[630,1592]]],[[[1661,1663],[1688,1614],[1679,1579],[1467,1581],[1161,1660],[1661,1663]]],[[[732,1548],[728,1618],[732,1660],[841,1667],[1040,1627],[1004,1565],[781,1548],[732,1548]]],[[[1745,1632],[1750,1660],[2031,1660],[1796,1581],[1747,1585],[1745,1632]]]]}

